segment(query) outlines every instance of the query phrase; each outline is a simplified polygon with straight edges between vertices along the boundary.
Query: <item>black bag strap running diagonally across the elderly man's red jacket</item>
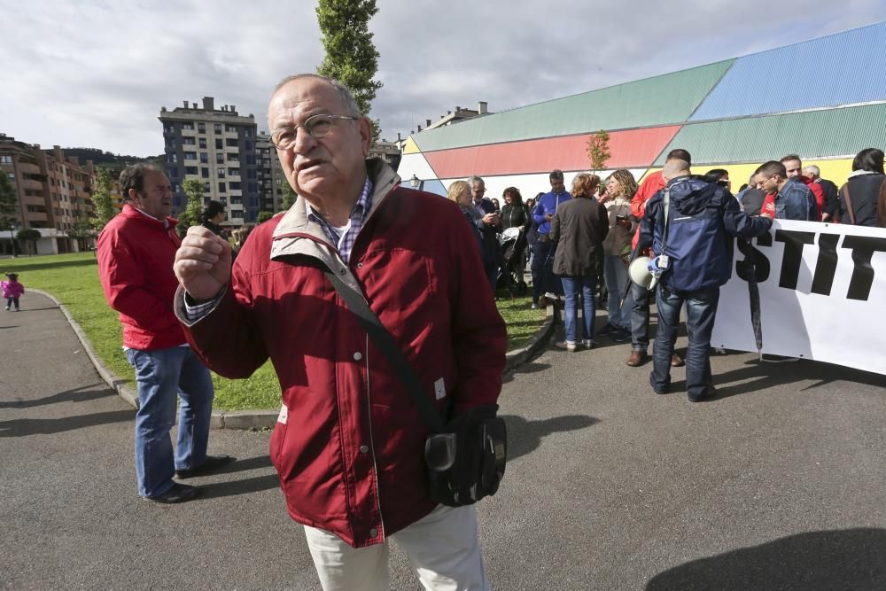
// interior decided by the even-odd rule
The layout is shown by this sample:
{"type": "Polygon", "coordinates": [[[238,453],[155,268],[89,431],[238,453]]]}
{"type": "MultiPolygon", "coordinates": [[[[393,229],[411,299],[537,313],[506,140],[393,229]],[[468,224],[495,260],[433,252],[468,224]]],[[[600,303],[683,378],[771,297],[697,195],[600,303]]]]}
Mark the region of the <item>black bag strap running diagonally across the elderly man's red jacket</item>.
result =
{"type": "Polygon", "coordinates": [[[424,386],[422,386],[421,380],[418,379],[416,370],[412,369],[412,366],[406,361],[406,357],[400,351],[400,347],[397,346],[391,333],[378,320],[378,316],[372,311],[369,304],[366,303],[366,299],[363,298],[360,292],[349,287],[341,277],[329,269],[324,270],[323,273],[332,282],[332,286],[338,292],[338,295],[341,296],[341,299],[345,300],[346,306],[360,321],[363,328],[369,334],[369,338],[375,342],[382,354],[385,355],[385,359],[391,364],[397,377],[400,378],[400,382],[403,383],[413,402],[416,403],[418,414],[422,416],[424,424],[427,425],[431,432],[443,432],[445,430],[443,418],[439,416],[437,409],[434,408],[431,400],[428,400],[427,395],[424,393],[424,386]]]}

